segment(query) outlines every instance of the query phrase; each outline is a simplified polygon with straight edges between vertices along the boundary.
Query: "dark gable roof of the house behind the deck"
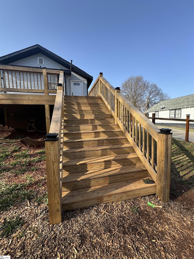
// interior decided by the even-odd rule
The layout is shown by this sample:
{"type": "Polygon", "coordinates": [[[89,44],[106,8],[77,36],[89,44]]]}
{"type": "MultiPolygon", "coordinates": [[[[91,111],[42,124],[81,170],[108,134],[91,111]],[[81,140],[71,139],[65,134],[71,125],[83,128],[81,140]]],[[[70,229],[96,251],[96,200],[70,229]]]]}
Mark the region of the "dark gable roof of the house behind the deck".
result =
{"type": "MultiPolygon", "coordinates": [[[[71,63],[68,62],[67,60],[62,59],[61,57],[57,56],[56,54],[52,53],[48,49],[43,48],[42,46],[36,44],[34,46],[28,47],[26,49],[21,49],[19,51],[10,53],[8,55],[0,57],[0,63],[1,64],[9,64],[14,61],[42,53],[43,55],[49,57],[50,59],[54,60],[55,62],[61,64],[62,66],[67,67],[70,70],[70,65],[71,63]]],[[[90,76],[88,73],[85,71],[81,70],[79,67],[74,66],[72,64],[72,71],[80,75],[81,77],[84,77],[88,81],[88,87],[92,83],[93,77],[90,76]]]]}

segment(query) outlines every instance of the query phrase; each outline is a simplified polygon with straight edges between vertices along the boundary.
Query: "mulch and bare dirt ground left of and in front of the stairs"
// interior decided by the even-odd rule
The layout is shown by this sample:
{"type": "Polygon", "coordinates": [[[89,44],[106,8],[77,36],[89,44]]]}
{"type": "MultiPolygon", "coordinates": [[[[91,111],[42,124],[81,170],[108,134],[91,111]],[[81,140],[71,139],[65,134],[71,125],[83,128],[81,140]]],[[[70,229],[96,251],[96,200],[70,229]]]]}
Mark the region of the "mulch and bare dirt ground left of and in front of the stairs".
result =
{"type": "MultiPolygon", "coordinates": [[[[14,233],[0,238],[0,255],[24,259],[194,258],[192,184],[176,182],[169,203],[162,203],[156,195],[151,195],[95,205],[63,212],[62,223],[50,226],[45,199],[45,160],[38,159],[44,147],[22,146],[19,139],[25,136],[34,139],[42,137],[32,132],[0,129],[0,148],[13,150],[13,146],[19,147],[19,151],[7,155],[2,163],[1,183],[5,186],[13,185],[14,182],[25,183],[23,191],[28,190],[28,195],[35,194],[25,199],[21,191],[20,196],[24,198],[21,200],[18,196],[12,206],[0,212],[1,235],[6,222],[17,216],[22,222],[14,233]],[[28,158],[24,158],[28,159],[24,172],[20,164],[16,165],[17,168],[10,167],[13,159],[21,152],[28,155],[28,158]],[[36,170],[33,171],[34,168],[36,170]],[[39,200],[37,197],[44,199],[39,200]],[[162,205],[162,208],[151,208],[148,202],[162,205]]],[[[21,163],[24,162],[21,160],[21,163]]],[[[176,166],[174,162],[173,166],[176,166]]],[[[4,189],[2,187],[2,193],[4,189]]],[[[7,203],[10,199],[8,196],[7,203]]]]}

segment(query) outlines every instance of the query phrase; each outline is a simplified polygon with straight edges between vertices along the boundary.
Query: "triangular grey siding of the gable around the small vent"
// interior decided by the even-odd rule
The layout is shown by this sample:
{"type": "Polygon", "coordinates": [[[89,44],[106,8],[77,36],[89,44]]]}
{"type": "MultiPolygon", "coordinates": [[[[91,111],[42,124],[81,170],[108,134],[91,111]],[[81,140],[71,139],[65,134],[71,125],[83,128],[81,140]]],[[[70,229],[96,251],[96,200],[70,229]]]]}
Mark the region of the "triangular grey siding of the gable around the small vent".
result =
{"type": "Polygon", "coordinates": [[[54,60],[48,58],[47,56],[45,56],[41,53],[35,54],[33,56],[29,56],[29,57],[21,59],[21,60],[14,61],[14,62],[9,63],[9,64],[15,65],[15,66],[39,67],[40,65],[38,64],[38,57],[44,58],[44,65],[41,65],[41,67],[69,70],[65,66],[60,65],[59,63],[55,62],[54,60]]]}

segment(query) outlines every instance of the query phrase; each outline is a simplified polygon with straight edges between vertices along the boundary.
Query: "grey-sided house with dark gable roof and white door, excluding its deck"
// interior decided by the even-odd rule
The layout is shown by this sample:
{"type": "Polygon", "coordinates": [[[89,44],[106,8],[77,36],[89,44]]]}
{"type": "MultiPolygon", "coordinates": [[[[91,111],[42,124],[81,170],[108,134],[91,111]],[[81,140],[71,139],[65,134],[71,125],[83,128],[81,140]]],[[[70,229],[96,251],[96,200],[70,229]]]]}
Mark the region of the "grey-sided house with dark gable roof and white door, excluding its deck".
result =
{"type": "MultiPolygon", "coordinates": [[[[0,64],[63,69],[65,75],[65,95],[86,96],[93,80],[93,77],[88,73],[73,64],[71,66],[70,62],[38,44],[0,57],[0,64]]],[[[52,78],[51,80],[54,79],[52,78]]]]}

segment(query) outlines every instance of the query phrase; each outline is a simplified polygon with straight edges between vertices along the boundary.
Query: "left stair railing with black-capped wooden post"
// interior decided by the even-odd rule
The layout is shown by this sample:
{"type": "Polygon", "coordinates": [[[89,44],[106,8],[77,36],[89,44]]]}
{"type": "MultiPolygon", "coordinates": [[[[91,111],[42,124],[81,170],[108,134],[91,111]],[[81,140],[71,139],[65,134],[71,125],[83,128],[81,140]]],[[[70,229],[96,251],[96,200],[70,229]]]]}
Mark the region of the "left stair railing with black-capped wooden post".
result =
{"type": "Polygon", "coordinates": [[[63,82],[64,74],[61,71],[49,134],[45,139],[50,224],[62,221],[63,82]]]}

